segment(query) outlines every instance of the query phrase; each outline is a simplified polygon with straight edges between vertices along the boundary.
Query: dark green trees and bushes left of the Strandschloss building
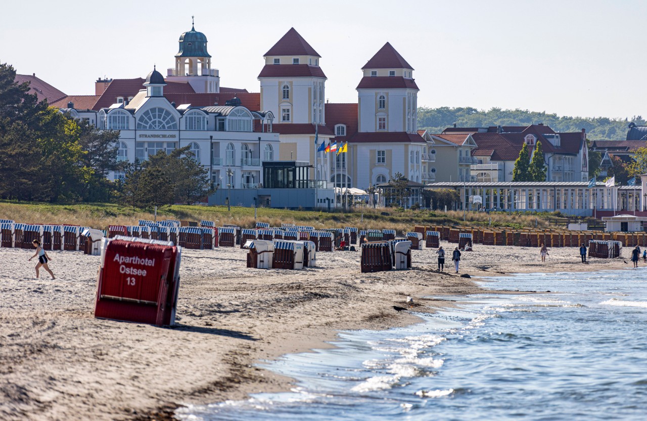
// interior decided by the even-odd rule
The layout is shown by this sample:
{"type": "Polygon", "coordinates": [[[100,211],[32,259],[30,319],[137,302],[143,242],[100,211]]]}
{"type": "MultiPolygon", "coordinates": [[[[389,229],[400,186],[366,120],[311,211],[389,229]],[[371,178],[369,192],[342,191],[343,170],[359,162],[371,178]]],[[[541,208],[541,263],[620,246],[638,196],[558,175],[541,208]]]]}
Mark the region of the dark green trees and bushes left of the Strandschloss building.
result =
{"type": "Polygon", "coordinates": [[[188,147],[134,164],[119,161],[119,131],[72,119],[15,79],[14,68],[0,63],[0,199],[144,208],[193,203],[214,190],[188,147]],[[111,181],[110,172],[126,177],[111,181]]]}

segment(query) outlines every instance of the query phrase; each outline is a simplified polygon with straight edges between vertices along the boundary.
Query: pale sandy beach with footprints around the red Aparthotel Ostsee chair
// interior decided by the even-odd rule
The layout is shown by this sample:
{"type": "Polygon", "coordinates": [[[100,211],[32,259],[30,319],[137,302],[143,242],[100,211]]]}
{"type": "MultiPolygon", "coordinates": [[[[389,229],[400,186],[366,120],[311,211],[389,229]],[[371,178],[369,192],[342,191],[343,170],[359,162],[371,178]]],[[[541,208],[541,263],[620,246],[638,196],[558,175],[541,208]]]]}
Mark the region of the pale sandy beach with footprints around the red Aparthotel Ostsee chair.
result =
{"type": "MultiPolygon", "coordinates": [[[[183,403],[287,389],[289,379],[254,363],[325,347],[336,330],[415,323],[393,308],[407,295],[416,311],[432,312],[450,302],[422,297],[481,291],[454,273],[435,273],[434,249],[413,251],[409,271],[364,274],[359,252],[318,253],[316,267],[287,271],[247,269],[241,249],[184,250],[179,323],[158,328],[94,319],[97,256],[49,252],[57,277],[50,280],[44,271],[34,278],[33,253],[0,249],[1,420],[162,419],[183,403]]],[[[463,253],[461,273],[628,266],[622,259],[584,265],[571,247],[551,249],[542,264],[538,249],[476,245],[463,253]]]]}

